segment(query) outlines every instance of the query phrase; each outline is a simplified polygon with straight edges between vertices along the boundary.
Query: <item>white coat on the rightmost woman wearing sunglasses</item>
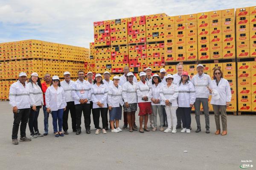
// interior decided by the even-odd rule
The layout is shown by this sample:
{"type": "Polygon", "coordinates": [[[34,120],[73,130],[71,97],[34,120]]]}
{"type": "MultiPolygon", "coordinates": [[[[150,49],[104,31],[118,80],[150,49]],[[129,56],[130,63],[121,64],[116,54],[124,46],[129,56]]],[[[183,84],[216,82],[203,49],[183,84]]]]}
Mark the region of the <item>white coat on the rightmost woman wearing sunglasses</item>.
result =
{"type": "Polygon", "coordinates": [[[212,80],[210,82],[210,89],[215,89],[216,91],[218,91],[219,95],[220,95],[220,99],[215,100],[215,99],[211,99],[211,104],[212,105],[226,105],[226,102],[231,102],[231,90],[230,90],[230,84],[229,82],[224,79],[221,78],[220,82],[216,83],[216,80],[212,80]]]}

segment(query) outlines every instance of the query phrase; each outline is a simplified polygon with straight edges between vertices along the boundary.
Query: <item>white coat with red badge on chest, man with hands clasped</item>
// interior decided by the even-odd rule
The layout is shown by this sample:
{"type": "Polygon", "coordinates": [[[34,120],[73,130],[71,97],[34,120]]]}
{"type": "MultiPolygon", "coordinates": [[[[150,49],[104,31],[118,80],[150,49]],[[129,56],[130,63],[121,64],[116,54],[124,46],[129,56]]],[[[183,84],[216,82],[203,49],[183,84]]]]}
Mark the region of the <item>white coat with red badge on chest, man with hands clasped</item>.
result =
{"type": "Polygon", "coordinates": [[[92,85],[90,82],[83,80],[81,82],[79,79],[76,80],[76,82],[73,83],[73,91],[72,91],[72,96],[75,101],[75,105],[79,105],[80,99],[87,99],[88,102],[87,104],[90,104],[90,99],[91,99],[91,87],[92,85]]]}

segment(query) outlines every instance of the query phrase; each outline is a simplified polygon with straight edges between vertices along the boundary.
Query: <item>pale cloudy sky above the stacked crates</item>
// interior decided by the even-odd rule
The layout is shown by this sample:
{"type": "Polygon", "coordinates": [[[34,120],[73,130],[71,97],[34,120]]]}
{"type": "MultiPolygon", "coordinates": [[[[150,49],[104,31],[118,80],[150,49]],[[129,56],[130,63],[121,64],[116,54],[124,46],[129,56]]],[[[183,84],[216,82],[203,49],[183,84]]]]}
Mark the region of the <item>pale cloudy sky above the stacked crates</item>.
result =
{"type": "Polygon", "coordinates": [[[89,48],[93,22],[256,6],[255,0],[0,0],[0,42],[43,40],[89,48]]]}

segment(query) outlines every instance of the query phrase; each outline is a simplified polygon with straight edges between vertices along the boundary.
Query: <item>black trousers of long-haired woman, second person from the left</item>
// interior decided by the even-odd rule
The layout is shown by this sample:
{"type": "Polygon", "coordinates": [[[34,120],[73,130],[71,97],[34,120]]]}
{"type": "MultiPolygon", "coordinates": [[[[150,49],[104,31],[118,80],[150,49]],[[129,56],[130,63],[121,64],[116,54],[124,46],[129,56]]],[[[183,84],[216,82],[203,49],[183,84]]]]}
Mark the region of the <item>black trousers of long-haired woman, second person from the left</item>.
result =
{"type": "Polygon", "coordinates": [[[36,106],[36,110],[34,111],[32,107],[30,107],[30,114],[29,114],[29,130],[30,133],[38,132],[38,115],[40,111],[40,106],[36,106]],[[34,132],[35,130],[35,132],[34,132]]]}

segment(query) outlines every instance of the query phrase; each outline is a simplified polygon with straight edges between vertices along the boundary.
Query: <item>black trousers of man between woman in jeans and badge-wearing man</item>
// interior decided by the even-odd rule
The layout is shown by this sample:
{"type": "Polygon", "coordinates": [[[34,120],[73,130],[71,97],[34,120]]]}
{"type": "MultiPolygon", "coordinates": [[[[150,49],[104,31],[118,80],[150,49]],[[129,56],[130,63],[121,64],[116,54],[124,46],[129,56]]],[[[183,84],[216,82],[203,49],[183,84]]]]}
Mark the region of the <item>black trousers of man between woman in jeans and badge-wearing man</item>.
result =
{"type": "Polygon", "coordinates": [[[70,116],[72,120],[72,129],[76,130],[76,107],[75,107],[75,102],[67,102],[66,110],[63,112],[63,124],[62,128],[64,131],[68,130],[68,113],[70,111],[70,116]]]}

